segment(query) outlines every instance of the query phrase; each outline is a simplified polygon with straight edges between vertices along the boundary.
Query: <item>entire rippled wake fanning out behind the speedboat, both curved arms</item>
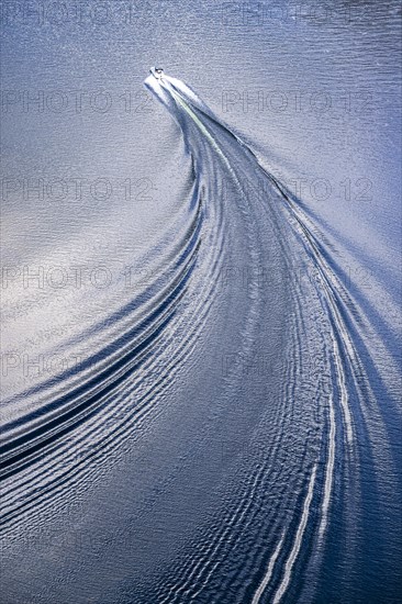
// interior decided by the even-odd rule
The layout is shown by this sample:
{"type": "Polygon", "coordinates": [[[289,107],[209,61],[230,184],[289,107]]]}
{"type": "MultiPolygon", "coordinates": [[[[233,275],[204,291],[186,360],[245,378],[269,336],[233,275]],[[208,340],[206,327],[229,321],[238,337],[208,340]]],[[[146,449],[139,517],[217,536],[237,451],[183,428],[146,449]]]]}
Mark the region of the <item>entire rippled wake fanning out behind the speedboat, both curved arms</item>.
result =
{"type": "MultiPolygon", "coordinates": [[[[102,460],[133,426],[166,413],[191,350],[220,325],[236,355],[224,361],[221,393],[205,391],[205,413],[227,425],[247,417],[243,445],[224,459],[213,513],[132,601],[360,601],[375,589],[358,569],[370,566],[378,536],[400,543],[388,533],[397,510],[389,523],[378,512],[401,496],[389,326],[345,287],[303,201],[237,134],[181,81],[153,69],[145,83],[181,128],[189,197],[142,259],[155,267],[153,281],[82,335],[91,356],[4,401],[30,410],[3,426],[4,535],[15,538],[27,514],[59,501],[71,481],[100,480],[102,460]],[[239,265],[245,287],[223,286],[239,265]]],[[[392,585],[398,571],[381,563],[392,585]]]]}

